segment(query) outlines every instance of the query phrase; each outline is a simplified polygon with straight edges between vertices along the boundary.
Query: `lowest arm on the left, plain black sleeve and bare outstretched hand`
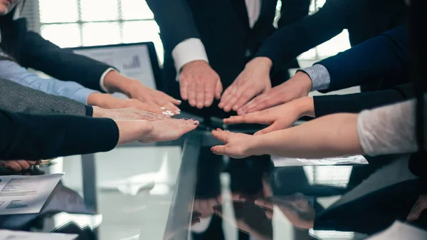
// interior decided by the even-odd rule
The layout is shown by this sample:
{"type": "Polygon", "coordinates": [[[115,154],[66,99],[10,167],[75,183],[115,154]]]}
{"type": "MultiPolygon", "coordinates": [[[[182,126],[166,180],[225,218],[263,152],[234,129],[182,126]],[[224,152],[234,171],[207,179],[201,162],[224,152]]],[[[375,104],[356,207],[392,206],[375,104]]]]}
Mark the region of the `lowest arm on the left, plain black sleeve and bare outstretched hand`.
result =
{"type": "Polygon", "coordinates": [[[127,142],[176,140],[195,120],[112,120],[71,115],[27,115],[0,110],[0,160],[38,161],[106,152],[127,142]]]}

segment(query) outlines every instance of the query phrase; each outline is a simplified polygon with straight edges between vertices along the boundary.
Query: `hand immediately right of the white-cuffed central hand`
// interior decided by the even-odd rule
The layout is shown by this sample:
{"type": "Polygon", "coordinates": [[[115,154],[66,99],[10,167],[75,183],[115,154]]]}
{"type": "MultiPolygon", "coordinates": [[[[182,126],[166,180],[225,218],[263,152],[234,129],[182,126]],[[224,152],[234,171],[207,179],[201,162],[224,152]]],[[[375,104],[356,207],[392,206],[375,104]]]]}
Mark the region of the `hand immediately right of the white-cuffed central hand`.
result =
{"type": "Polygon", "coordinates": [[[270,68],[273,62],[269,58],[253,58],[236,80],[224,91],[218,108],[224,111],[237,111],[253,97],[270,90],[270,68]]]}

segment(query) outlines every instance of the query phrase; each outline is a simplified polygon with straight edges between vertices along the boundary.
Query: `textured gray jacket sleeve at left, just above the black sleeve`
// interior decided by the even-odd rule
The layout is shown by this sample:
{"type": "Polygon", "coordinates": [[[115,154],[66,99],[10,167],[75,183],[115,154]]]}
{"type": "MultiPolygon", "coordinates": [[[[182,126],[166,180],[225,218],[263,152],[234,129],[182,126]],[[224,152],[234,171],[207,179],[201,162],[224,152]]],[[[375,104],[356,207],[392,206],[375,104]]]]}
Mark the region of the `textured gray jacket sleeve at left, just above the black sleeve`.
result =
{"type": "Polygon", "coordinates": [[[92,107],[0,78],[0,109],[28,114],[92,116],[92,107]]]}

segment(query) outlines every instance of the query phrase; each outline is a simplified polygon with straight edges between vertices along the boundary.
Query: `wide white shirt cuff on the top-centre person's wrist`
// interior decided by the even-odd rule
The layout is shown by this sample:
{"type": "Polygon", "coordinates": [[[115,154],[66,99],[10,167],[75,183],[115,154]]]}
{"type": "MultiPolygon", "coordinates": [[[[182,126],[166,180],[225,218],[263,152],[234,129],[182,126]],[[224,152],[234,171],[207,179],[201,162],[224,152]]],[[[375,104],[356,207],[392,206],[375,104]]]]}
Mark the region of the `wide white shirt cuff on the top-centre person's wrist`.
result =
{"type": "Polygon", "coordinates": [[[178,43],[172,51],[172,58],[174,58],[177,75],[179,75],[181,68],[186,65],[186,63],[197,60],[203,60],[209,63],[208,55],[199,38],[188,38],[178,43]]]}

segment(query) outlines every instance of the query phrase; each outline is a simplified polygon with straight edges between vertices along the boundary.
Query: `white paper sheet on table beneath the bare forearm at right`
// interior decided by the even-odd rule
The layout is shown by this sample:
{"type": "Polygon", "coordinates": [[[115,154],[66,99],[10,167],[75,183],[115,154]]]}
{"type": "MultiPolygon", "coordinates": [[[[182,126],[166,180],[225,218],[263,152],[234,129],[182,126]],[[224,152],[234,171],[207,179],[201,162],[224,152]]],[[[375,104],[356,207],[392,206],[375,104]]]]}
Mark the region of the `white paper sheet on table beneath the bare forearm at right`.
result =
{"type": "Polygon", "coordinates": [[[331,157],[317,160],[307,160],[302,158],[271,157],[275,167],[293,166],[322,166],[322,165],[367,165],[368,161],[362,155],[347,157],[331,157]]]}

